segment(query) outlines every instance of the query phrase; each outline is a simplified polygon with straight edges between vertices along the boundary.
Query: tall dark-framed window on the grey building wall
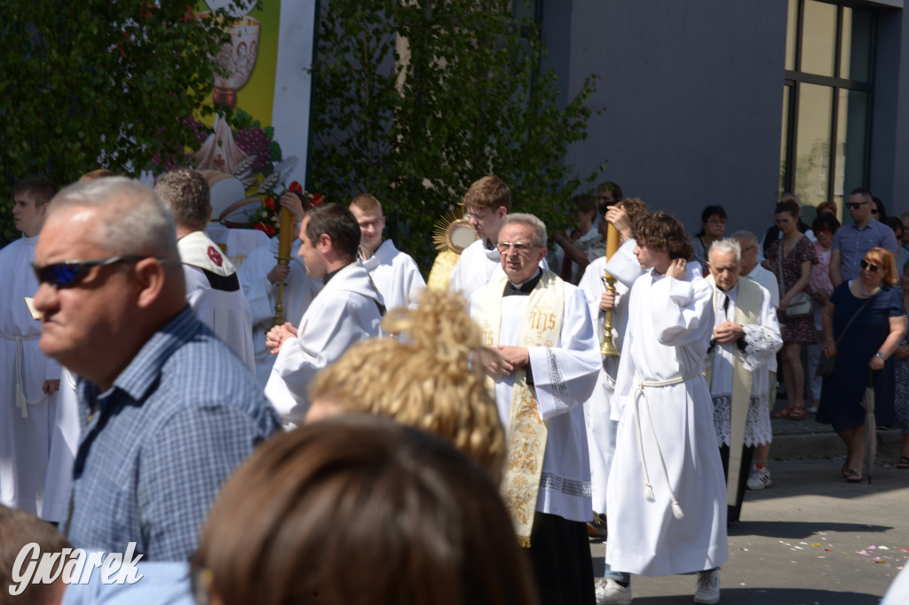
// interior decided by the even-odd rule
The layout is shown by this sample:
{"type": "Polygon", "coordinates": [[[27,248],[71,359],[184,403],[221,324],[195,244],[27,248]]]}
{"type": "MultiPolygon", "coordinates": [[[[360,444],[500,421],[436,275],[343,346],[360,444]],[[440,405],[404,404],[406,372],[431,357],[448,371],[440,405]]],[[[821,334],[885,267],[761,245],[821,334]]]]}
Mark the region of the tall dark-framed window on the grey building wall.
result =
{"type": "Polygon", "coordinates": [[[844,193],[867,183],[873,48],[870,9],[789,0],[780,193],[842,210],[844,193]]]}

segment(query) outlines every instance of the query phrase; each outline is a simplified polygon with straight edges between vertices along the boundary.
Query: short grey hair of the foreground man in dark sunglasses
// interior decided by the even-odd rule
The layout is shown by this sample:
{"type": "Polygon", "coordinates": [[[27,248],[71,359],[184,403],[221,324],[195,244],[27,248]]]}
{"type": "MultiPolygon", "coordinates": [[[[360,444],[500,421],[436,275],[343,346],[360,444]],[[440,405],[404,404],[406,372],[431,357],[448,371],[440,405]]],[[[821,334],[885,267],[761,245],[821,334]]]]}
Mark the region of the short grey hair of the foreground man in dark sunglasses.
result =
{"type": "Polygon", "coordinates": [[[48,220],[79,209],[97,211],[90,241],[115,255],[179,257],[174,219],[155,192],[125,176],[73,183],[54,197],[48,220]]]}

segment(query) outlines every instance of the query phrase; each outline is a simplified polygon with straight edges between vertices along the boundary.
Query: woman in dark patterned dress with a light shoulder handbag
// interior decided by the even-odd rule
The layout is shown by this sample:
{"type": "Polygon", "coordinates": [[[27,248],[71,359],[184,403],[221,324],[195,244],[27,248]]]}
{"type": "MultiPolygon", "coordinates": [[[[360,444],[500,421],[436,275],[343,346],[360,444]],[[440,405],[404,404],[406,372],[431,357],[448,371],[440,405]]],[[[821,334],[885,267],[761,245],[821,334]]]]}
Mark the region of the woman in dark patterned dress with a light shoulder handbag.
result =
{"type": "Polygon", "coordinates": [[[776,226],[783,237],[767,249],[767,261],[780,286],[780,306],[777,309],[783,332],[783,382],[786,385],[786,409],[774,418],[804,420],[804,368],[802,345],[816,340],[814,317],[791,318],[786,309],[797,293],[807,292],[811,265],[818,263],[814,245],[798,230],[798,205],[794,202],[776,204],[776,226]]]}

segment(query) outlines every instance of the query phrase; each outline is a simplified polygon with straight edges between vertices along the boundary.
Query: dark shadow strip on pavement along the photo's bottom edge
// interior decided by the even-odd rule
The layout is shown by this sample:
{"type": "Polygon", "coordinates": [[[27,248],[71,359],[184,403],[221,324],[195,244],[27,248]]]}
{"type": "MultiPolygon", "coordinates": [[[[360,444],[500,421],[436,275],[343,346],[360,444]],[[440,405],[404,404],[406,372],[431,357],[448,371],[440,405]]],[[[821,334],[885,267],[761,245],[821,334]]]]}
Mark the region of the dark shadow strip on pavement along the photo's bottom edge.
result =
{"type": "MultiPolygon", "coordinates": [[[[877,605],[881,597],[856,592],[814,589],[722,589],[721,603],[735,605],[877,605]]],[[[690,604],[690,594],[671,597],[634,597],[634,605],[690,604]]]]}

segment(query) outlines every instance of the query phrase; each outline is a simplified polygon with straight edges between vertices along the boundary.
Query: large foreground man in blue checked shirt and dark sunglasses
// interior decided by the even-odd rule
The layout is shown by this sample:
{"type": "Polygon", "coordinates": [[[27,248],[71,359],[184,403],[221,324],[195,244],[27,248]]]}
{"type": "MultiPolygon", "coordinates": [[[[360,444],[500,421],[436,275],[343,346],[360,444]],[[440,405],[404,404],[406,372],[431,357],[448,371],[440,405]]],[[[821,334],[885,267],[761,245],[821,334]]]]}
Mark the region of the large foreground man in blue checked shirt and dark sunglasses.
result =
{"type": "Polygon", "coordinates": [[[170,213],[111,177],[58,193],[35,247],[41,350],[81,376],[61,529],[77,548],[185,560],[221,484],[280,427],[186,305],[170,213]]]}

